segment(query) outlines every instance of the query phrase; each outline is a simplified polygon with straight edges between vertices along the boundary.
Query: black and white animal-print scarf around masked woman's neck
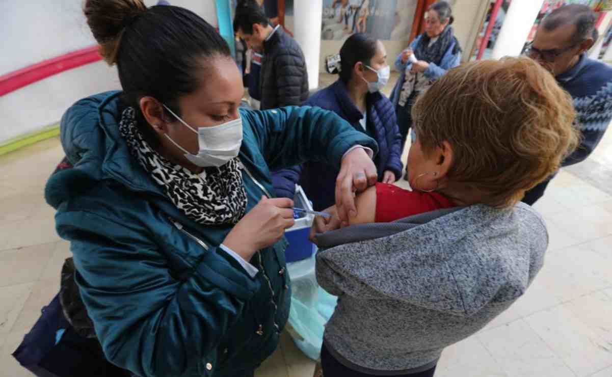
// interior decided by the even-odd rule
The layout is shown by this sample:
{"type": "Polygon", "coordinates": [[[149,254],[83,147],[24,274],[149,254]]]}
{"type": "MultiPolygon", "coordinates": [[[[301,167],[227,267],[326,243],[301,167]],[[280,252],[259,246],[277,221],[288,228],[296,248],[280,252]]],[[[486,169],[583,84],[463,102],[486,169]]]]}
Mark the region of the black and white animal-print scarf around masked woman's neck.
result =
{"type": "Polygon", "coordinates": [[[187,217],[203,225],[222,225],[235,224],[244,216],[247,193],[237,158],[219,168],[204,168],[202,173],[194,174],[149,146],[136,127],[132,107],[123,111],[119,132],[133,157],[187,217]]]}

